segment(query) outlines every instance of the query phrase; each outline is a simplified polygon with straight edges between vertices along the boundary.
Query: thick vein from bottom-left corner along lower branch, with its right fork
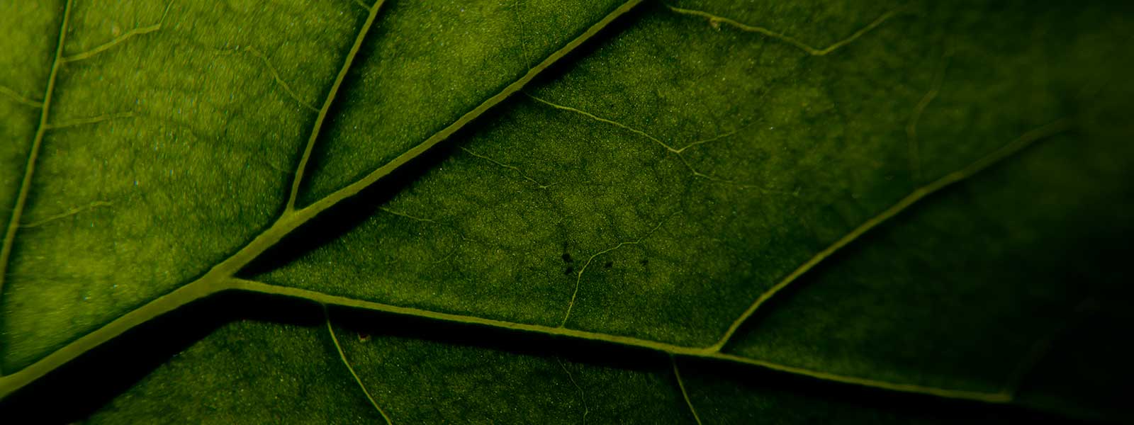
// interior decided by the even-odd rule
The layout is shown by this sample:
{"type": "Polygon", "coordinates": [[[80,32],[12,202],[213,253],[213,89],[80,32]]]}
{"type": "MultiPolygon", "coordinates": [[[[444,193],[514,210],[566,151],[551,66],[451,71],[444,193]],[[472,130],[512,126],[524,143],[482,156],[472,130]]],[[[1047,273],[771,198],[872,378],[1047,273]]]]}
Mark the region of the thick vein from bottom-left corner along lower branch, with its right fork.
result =
{"type": "MultiPolygon", "coordinates": [[[[938,180],[936,180],[936,181],[933,181],[933,182],[931,182],[931,184],[929,184],[926,186],[922,186],[922,187],[915,189],[911,195],[908,195],[907,197],[903,198],[897,204],[895,204],[895,206],[891,206],[890,209],[887,209],[886,211],[883,211],[881,214],[877,215],[875,218],[873,218],[871,220],[868,220],[865,223],[863,223],[862,226],[860,226],[858,228],[856,228],[855,230],[853,230],[850,233],[847,233],[847,236],[840,238],[838,241],[836,241],[835,244],[832,244],[831,247],[828,247],[828,249],[824,249],[823,252],[819,253],[811,261],[806,262],[805,264],[803,264],[802,266],[799,266],[798,269],[796,269],[796,271],[793,272],[792,274],[789,274],[787,278],[785,278],[785,280],[782,280],[780,283],[778,283],[772,289],[770,289],[769,291],[767,291],[764,295],[762,295],[761,297],[759,297],[756,299],[756,301],[754,301],[752,304],[752,306],[750,306],[748,309],[745,311],[744,314],[742,314],[741,317],[738,317],[733,323],[733,325],[726,332],[725,337],[722,337],[713,346],[709,346],[709,347],[685,347],[685,346],[678,346],[678,345],[672,345],[672,343],[667,343],[667,342],[644,340],[644,339],[634,338],[634,337],[616,335],[616,334],[608,334],[608,333],[600,333],[600,332],[589,332],[589,331],[575,330],[575,329],[569,329],[569,328],[558,328],[558,326],[557,328],[552,328],[552,326],[545,326],[545,325],[534,325],[534,324],[505,322],[505,321],[497,321],[497,320],[484,318],[484,317],[464,316],[464,315],[456,315],[456,314],[448,314],[448,313],[440,313],[440,312],[431,312],[431,311],[424,311],[424,309],[418,309],[418,308],[400,307],[400,306],[393,306],[393,305],[387,305],[387,304],[373,303],[373,301],[365,301],[365,300],[358,300],[358,299],[346,298],[346,297],[337,297],[337,296],[331,296],[331,295],[327,295],[327,294],[322,294],[322,292],[316,292],[316,291],[311,291],[311,290],[305,290],[305,289],[279,287],[279,286],[266,284],[266,283],[254,282],[254,281],[247,281],[247,280],[242,280],[242,279],[234,279],[234,278],[231,278],[231,275],[236,272],[236,270],[227,271],[227,272],[223,272],[223,273],[215,273],[218,270],[222,270],[226,263],[229,263],[229,262],[225,262],[225,263],[218,265],[217,267],[214,267],[214,270],[211,271],[210,273],[208,273],[205,277],[202,277],[201,279],[198,279],[198,280],[196,280],[196,281],[194,281],[194,282],[192,282],[189,284],[186,284],[186,286],[184,286],[181,288],[178,288],[174,292],[170,292],[170,294],[167,294],[164,296],[161,296],[158,299],[154,299],[153,301],[150,301],[145,306],[142,306],[141,308],[134,309],[134,311],[132,311],[132,312],[122,315],[121,317],[119,317],[119,318],[110,322],[109,324],[107,324],[107,325],[104,325],[102,328],[99,328],[94,332],[91,332],[91,333],[88,333],[86,335],[81,337],[79,339],[77,339],[74,342],[67,345],[66,347],[59,349],[58,351],[48,355],[46,357],[44,357],[43,359],[41,359],[41,360],[32,364],[31,366],[27,366],[24,369],[18,371],[18,372],[16,372],[16,373],[14,373],[11,375],[0,376],[0,399],[3,399],[5,397],[7,397],[8,394],[10,394],[11,392],[14,392],[14,391],[16,391],[16,390],[18,390],[18,389],[27,385],[28,383],[34,382],[35,380],[37,380],[41,376],[48,374],[49,372],[56,369],[57,367],[62,366],[64,364],[66,364],[66,363],[70,362],[71,359],[78,357],[79,355],[82,355],[82,354],[84,354],[84,352],[86,352],[86,351],[88,351],[88,350],[91,350],[91,349],[93,349],[93,348],[102,345],[103,342],[107,342],[107,341],[109,341],[109,340],[118,337],[119,334],[121,334],[121,333],[124,333],[124,332],[133,329],[134,326],[137,326],[137,325],[139,325],[142,323],[145,323],[145,322],[147,322],[147,321],[150,321],[150,320],[152,320],[152,318],[154,318],[154,317],[156,317],[159,315],[169,313],[170,311],[172,311],[175,308],[178,308],[178,307],[180,307],[183,305],[186,305],[186,304],[188,304],[188,303],[191,303],[193,300],[204,298],[206,296],[217,294],[217,292],[222,291],[222,290],[246,290],[246,291],[253,291],[253,292],[260,292],[260,294],[280,295],[280,296],[287,296],[287,297],[303,298],[303,299],[316,301],[316,303],[324,304],[324,305],[339,305],[339,306],[345,306],[345,307],[364,308],[364,309],[370,309],[370,311],[379,311],[379,312],[387,312],[387,313],[395,313],[395,314],[404,314],[404,315],[412,315],[412,316],[418,316],[418,317],[426,317],[426,318],[440,320],[440,321],[446,321],[446,322],[465,323],[465,324],[474,324],[474,325],[484,325],[484,326],[500,328],[500,329],[507,329],[507,330],[514,330],[514,331],[522,331],[522,332],[541,333],[541,334],[559,335],[559,337],[568,337],[568,338],[578,338],[578,339],[585,339],[585,340],[593,340],[593,341],[601,341],[601,342],[607,342],[607,343],[613,343],[613,345],[638,347],[638,348],[645,348],[645,349],[651,349],[651,350],[658,350],[658,351],[667,352],[667,354],[675,355],[675,356],[688,356],[688,357],[699,357],[699,358],[706,358],[706,359],[730,362],[730,363],[737,363],[737,364],[746,364],[746,365],[753,365],[753,366],[758,366],[758,367],[770,368],[770,369],[780,371],[780,372],[790,373],[790,374],[811,376],[811,377],[814,377],[814,379],[820,379],[820,380],[826,380],[826,381],[835,381],[835,382],[843,382],[843,383],[848,383],[848,384],[856,384],[856,385],[880,388],[880,389],[887,389],[887,390],[892,390],[892,391],[922,393],[922,394],[945,397],[945,398],[957,398],[957,399],[966,399],[966,400],[978,400],[978,401],[984,401],[984,402],[1008,402],[1008,401],[1012,401],[1013,394],[1009,393],[1009,392],[1004,392],[1004,391],[1001,391],[1001,392],[995,392],[995,393],[989,393],[989,392],[951,390],[951,389],[932,388],[932,386],[924,386],[924,385],[916,385],[916,384],[905,384],[905,383],[894,383],[894,382],[878,381],[878,380],[871,380],[871,379],[864,379],[864,377],[857,377],[857,376],[838,375],[838,374],[832,374],[832,373],[827,373],[827,372],[821,372],[821,371],[813,371],[813,369],[807,369],[807,368],[802,368],[802,367],[796,367],[796,366],[781,365],[781,364],[777,364],[777,363],[772,363],[772,362],[768,362],[768,360],[762,360],[762,359],[755,359],[755,358],[750,358],[750,357],[736,356],[736,355],[722,352],[720,349],[728,341],[728,339],[741,328],[741,325],[744,324],[744,322],[752,315],[752,313],[754,313],[756,311],[756,308],[759,308],[764,301],[767,301],[777,291],[779,291],[780,289],[782,289],[784,287],[786,287],[790,282],[795,281],[796,278],[798,278],[799,275],[804,274],[806,271],[811,270],[814,265],[816,265],[818,263],[822,262],[824,258],[827,258],[828,256],[830,256],[830,254],[832,254],[835,250],[838,250],[843,246],[846,246],[850,241],[857,239],[858,236],[861,236],[861,235],[865,233],[866,231],[869,231],[870,229],[872,229],[872,228],[881,224],[882,222],[887,221],[889,218],[892,218],[894,215],[897,215],[899,212],[905,211],[906,209],[908,209],[908,206],[913,205],[917,201],[920,201],[920,199],[922,199],[922,198],[924,198],[924,197],[926,197],[926,196],[929,196],[931,194],[934,194],[934,193],[941,190],[945,187],[948,187],[948,186],[957,184],[957,182],[959,182],[962,180],[968,179],[968,178],[971,178],[971,177],[980,173],[981,171],[983,171],[983,170],[985,170],[985,169],[988,169],[988,168],[990,168],[990,167],[992,167],[992,165],[995,165],[995,164],[1004,161],[1005,159],[1008,159],[1008,158],[1015,155],[1016,153],[1019,153],[1021,151],[1025,150],[1026,147],[1033,145],[1035,142],[1038,142],[1040,139],[1043,139],[1043,138],[1046,138],[1048,136],[1051,136],[1051,135],[1055,135],[1055,134],[1058,134],[1060,131],[1064,131],[1064,130],[1068,129],[1070,125],[1072,125],[1072,122],[1069,120],[1063,119],[1063,120],[1057,120],[1057,121],[1051,122],[1049,125],[1042,126],[1040,128],[1033,129],[1031,131],[1027,131],[1024,135],[1022,135],[1019,138],[1013,141],[1012,143],[1005,145],[1004,147],[1000,147],[1000,148],[993,151],[992,153],[990,153],[990,154],[988,154],[988,155],[985,155],[985,156],[976,160],[975,162],[971,163],[970,165],[967,165],[967,167],[965,167],[965,168],[963,168],[960,170],[950,172],[950,173],[946,175],[945,177],[942,177],[942,178],[940,178],[940,179],[938,179],[938,180]]],[[[306,211],[306,210],[310,210],[310,207],[308,209],[304,209],[304,210],[299,210],[299,212],[306,211]]],[[[297,212],[297,214],[293,214],[293,216],[295,216],[295,215],[298,215],[298,212],[297,212]]],[[[276,228],[276,227],[273,227],[273,228],[276,228]]],[[[256,240],[266,240],[269,238],[269,236],[272,235],[272,233],[273,232],[271,231],[271,229],[269,229],[268,231],[264,232],[264,235],[261,236],[261,238],[257,238],[256,240]],[[268,235],[268,236],[265,236],[265,235],[268,235]]],[[[282,237],[282,236],[279,236],[279,237],[282,237]]],[[[249,244],[249,247],[256,245],[256,240],[254,240],[253,244],[249,244]]],[[[245,250],[248,250],[248,249],[253,249],[253,248],[249,248],[249,247],[246,247],[242,252],[245,252],[245,250]]],[[[266,249],[266,247],[264,247],[262,249],[266,249]]],[[[240,253],[238,253],[237,255],[234,255],[234,258],[238,257],[239,255],[240,255],[240,253]]],[[[229,261],[232,261],[232,258],[229,258],[229,261]]]]}

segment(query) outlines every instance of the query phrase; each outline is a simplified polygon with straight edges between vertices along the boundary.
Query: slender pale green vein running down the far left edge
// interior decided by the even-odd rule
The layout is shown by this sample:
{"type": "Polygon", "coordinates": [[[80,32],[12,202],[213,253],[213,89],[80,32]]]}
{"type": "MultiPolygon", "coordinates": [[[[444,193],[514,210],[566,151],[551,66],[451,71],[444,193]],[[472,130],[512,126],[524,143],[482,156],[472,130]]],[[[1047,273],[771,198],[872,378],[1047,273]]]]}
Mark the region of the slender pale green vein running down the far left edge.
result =
{"type": "Polygon", "coordinates": [[[48,114],[51,112],[51,95],[56,91],[56,77],[59,75],[59,66],[64,63],[64,42],[67,39],[67,25],[70,22],[70,9],[74,0],[67,0],[64,7],[64,22],[59,25],[59,42],[56,44],[56,56],[51,60],[51,74],[48,75],[48,86],[43,90],[43,103],[40,105],[40,125],[35,129],[32,138],[32,146],[27,153],[27,164],[24,165],[24,180],[19,185],[19,195],[16,197],[16,205],[12,206],[11,218],[8,219],[8,231],[3,236],[3,246],[0,247],[0,296],[3,295],[3,282],[8,275],[8,260],[11,257],[12,243],[16,240],[16,230],[19,229],[19,219],[24,213],[24,205],[27,204],[27,194],[32,189],[32,176],[35,175],[35,160],[40,156],[40,146],[43,145],[43,135],[48,128],[48,114]]]}

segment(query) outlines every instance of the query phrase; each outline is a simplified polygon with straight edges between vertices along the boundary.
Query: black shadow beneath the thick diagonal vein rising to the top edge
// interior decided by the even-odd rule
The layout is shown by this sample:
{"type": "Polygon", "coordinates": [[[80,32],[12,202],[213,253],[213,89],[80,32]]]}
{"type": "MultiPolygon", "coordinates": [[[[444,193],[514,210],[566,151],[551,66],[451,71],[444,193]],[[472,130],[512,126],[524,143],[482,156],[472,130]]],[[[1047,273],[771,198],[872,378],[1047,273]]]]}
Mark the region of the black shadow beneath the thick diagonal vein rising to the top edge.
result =
{"type": "MultiPolygon", "coordinates": [[[[633,26],[634,23],[641,19],[644,14],[655,11],[659,7],[661,6],[642,5],[626,15],[623,15],[599,32],[599,34],[594,35],[587,42],[576,48],[555,65],[543,70],[540,76],[528,83],[526,87],[539,86],[558,79],[574,66],[576,60],[585,58],[592,54],[595,49],[599,49],[603,40],[633,26]]],[[[371,53],[361,51],[358,54],[358,58],[355,60],[365,60],[366,56],[371,53]]],[[[353,80],[356,78],[357,76],[348,75],[346,80],[344,80],[344,88],[354,84],[353,80]]],[[[523,92],[524,91],[521,90],[519,92],[514,93],[508,99],[501,101],[496,107],[489,109],[486,112],[465,125],[458,131],[454,133],[448,139],[438,143],[425,153],[406,162],[397,170],[375,181],[373,185],[363,189],[355,196],[342,199],[337,205],[299,227],[285,237],[279,244],[248,264],[239,273],[239,275],[245,278],[255,277],[257,274],[269,272],[281,264],[295,261],[304,254],[339,238],[344,233],[350,231],[350,229],[359,226],[367,218],[378,214],[379,209],[382,205],[389,203],[390,199],[398,193],[413,186],[414,182],[422,178],[422,176],[437,169],[438,165],[448,160],[471,136],[481,131],[484,127],[490,126],[500,117],[507,114],[517,102],[527,102],[528,100],[524,96],[523,92]]],[[[328,116],[332,117],[336,113],[337,108],[340,107],[338,104],[333,104],[328,116]]],[[[316,162],[322,156],[320,154],[321,148],[323,147],[320,147],[316,143],[310,162],[307,163],[308,170],[319,169],[319,164],[316,162]]]]}

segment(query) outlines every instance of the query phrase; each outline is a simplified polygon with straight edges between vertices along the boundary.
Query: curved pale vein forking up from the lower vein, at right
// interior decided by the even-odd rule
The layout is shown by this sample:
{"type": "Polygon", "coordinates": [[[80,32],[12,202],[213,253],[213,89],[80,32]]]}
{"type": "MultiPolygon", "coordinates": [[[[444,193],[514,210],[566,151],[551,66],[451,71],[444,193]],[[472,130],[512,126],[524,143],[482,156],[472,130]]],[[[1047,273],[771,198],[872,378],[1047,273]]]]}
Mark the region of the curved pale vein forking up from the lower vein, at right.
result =
{"type": "Polygon", "coordinates": [[[1013,142],[1004,145],[1004,146],[1001,146],[1000,148],[993,151],[992,153],[989,153],[988,155],[985,155],[985,156],[976,160],[975,162],[968,164],[967,167],[965,167],[965,168],[963,168],[960,170],[950,172],[948,175],[945,175],[943,177],[934,180],[933,182],[930,182],[929,185],[919,187],[917,189],[915,189],[909,195],[906,195],[906,197],[899,199],[896,204],[894,204],[890,207],[886,209],[885,211],[882,211],[878,215],[874,215],[870,220],[866,220],[865,222],[863,222],[858,227],[854,228],[854,230],[852,230],[850,232],[846,233],[845,236],[843,236],[841,238],[839,238],[838,240],[836,240],[833,244],[831,244],[830,246],[828,246],[823,250],[820,250],[818,254],[815,254],[810,260],[807,260],[805,263],[803,263],[803,265],[796,267],[794,271],[792,271],[792,273],[789,273],[782,280],[780,280],[775,286],[772,286],[770,289],[768,289],[767,291],[764,291],[763,294],[761,294],[760,297],[758,297],[756,300],[753,301],[752,305],[748,306],[748,308],[746,311],[744,311],[744,313],[741,314],[741,316],[737,317],[736,321],[733,322],[733,324],[728,328],[728,330],[725,331],[725,334],[721,335],[720,340],[718,340],[717,343],[712,345],[710,347],[710,349],[712,349],[714,351],[720,351],[721,348],[723,348],[725,345],[728,343],[728,340],[730,338],[733,338],[733,334],[735,334],[736,331],[741,329],[741,325],[743,325],[744,322],[747,321],[747,318],[751,317],[752,314],[754,314],[758,308],[760,308],[760,306],[762,306],[764,303],[767,303],[769,299],[771,299],[773,296],[776,296],[777,292],[779,292],[780,290],[782,290],[787,286],[792,284],[792,282],[796,281],[801,275],[803,275],[804,273],[806,273],[811,269],[814,269],[815,265],[819,265],[819,263],[823,262],[823,260],[826,260],[827,257],[831,256],[831,254],[835,254],[835,252],[839,250],[844,246],[847,246],[852,241],[858,239],[858,237],[861,237],[862,235],[866,233],[871,229],[873,229],[873,228],[878,227],[879,224],[886,222],[887,220],[894,218],[898,213],[907,210],[911,205],[913,205],[914,203],[921,201],[925,196],[929,196],[929,195],[931,195],[933,193],[937,193],[938,190],[941,190],[941,189],[943,189],[943,188],[946,188],[946,187],[948,187],[950,185],[954,185],[954,184],[956,184],[958,181],[965,180],[965,179],[967,179],[967,178],[976,175],[978,172],[981,172],[984,169],[987,169],[987,168],[996,164],[997,162],[1000,162],[1000,161],[1002,161],[1002,160],[1012,156],[1013,154],[1015,154],[1015,153],[1019,152],[1021,150],[1030,146],[1031,144],[1033,144],[1034,142],[1036,142],[1039,139],[1043,139],[1043,138],[1047,138],[1047,137],[1052,136],[1055,134],[1065,131],[1068,128],[1070,128],[1070,125],[1072,125],[1072,122],[1069,120],[1067,120],[1067,119],[1060,119],[1060,120],[1050,122],[1048,125],[1044,125],[1042,127],[1035,128],[1035,129],[1033,129],[1031,131],[1027,131],[1024,135],[1019,136],[1015,141],[1013,141],[1013,142]]]}

